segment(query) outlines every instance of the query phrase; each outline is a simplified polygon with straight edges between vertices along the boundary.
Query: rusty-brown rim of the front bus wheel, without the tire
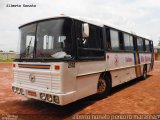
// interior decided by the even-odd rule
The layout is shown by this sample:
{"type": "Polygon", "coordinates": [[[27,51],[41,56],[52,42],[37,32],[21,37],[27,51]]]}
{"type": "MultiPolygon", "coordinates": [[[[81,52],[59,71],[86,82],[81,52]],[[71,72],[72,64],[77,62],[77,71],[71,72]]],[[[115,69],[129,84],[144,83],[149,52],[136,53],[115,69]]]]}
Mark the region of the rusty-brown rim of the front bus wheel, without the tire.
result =
{"type": "Polygon", "coordinates": [[[98,93],[104,93],[106,90],[106,82],[104,79],[99,79],[98,81],[98,93]]]}

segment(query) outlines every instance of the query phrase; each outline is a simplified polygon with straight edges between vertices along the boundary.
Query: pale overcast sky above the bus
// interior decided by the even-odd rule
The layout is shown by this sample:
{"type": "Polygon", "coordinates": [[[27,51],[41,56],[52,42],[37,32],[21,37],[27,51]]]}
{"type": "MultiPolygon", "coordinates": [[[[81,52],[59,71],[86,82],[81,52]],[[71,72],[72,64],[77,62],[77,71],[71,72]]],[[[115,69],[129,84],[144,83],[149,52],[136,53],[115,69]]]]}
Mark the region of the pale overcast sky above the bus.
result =
{"type": "Polygon", "coordinates": [[[160,0],[0,0],[0,50],[17,51],[18,27],[60,15],[99,19],[129,32],[160,40],[160,0]],[[6,7],[35,4],[37,7],[6,7]]]}

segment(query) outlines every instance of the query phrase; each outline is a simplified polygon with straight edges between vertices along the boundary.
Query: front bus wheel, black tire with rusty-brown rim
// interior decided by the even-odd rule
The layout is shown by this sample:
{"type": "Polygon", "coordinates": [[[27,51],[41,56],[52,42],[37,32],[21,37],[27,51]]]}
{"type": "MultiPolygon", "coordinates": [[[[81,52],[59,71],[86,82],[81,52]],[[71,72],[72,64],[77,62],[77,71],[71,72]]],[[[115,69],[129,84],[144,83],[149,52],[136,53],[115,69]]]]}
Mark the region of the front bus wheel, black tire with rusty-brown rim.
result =
{"type": "Polygon", "coordinates": [[[100,77],[97,84],[97,97],[105,98],[110,94],[111,91],[111,80],[105,75],[104,77],[100,77]]]}

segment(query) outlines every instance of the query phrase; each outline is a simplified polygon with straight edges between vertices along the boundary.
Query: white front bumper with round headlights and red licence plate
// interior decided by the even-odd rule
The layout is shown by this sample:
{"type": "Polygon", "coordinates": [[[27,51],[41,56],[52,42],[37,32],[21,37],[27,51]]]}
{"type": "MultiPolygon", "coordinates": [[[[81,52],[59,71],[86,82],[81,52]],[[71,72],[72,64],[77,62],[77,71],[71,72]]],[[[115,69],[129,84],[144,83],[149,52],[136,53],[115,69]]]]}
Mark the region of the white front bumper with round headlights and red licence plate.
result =
{"type": "Polygon", "coordinates": [[[76,93],[76,91],[72,91],[64,94],[56,94],[40,90],[24,89],[15,85],[12,85],[12,91],[16,94],[23,95],[27,98],[33,98],[61,106],[74,102],[74,96],[76,93]]]}

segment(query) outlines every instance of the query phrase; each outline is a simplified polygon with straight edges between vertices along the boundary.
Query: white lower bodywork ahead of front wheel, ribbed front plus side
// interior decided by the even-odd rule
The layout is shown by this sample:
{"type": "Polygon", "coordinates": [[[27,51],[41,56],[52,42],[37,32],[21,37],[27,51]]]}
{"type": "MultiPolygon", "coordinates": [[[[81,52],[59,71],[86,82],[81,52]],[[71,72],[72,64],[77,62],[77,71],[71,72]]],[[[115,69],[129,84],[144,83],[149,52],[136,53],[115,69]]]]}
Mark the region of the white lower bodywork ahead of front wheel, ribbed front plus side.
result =
{"type": "MultiPolygon", "coordinates": [[[[13,69],[14,83],[12,84],[12,86],[23,88],[26,97],[38,100],[41,100],[40,93],[58,95],[60,99],[59,105],[65,105],[70,102],[97,93],[97,83],[100,73],[102,71],[105,71],[105,61],[96,61],[92,63],[77,62],[72,67],[69,66],[70,63],[66,62],[55,62],[47,64],[43,63],[43,65],[50,66],[50,69],[48,70],[20,68],[18,66],[22,63],[14,64],[16,64],[16,68],[13,69]],[[60,70],[56,71],[54,69],[55,65],[59,65],[60,70]],[[95,65],[97,67],[95,67],[95,65]],[[85,71],[83,69],[84,67],[86,68],[85,71]],[[84,72],[86,74],[84,74],[84,72]],[[34,82],[30,80],[30,75],[35,76],[34,82]],[[25,80],[23,80],[24,78],[25,80]],[[28,91],[36,92],[37,96],[34,97],[28,95],[28,91]]],[[[23,62],[24,66],[39,64],[41,63],[23,62]]]]}

